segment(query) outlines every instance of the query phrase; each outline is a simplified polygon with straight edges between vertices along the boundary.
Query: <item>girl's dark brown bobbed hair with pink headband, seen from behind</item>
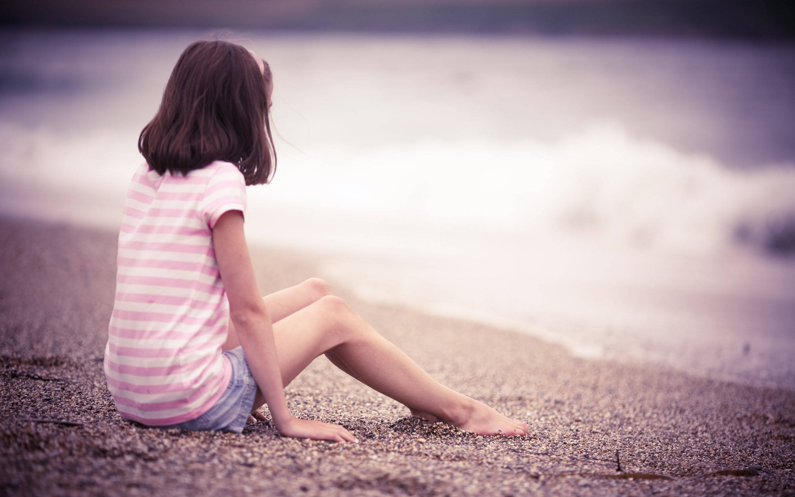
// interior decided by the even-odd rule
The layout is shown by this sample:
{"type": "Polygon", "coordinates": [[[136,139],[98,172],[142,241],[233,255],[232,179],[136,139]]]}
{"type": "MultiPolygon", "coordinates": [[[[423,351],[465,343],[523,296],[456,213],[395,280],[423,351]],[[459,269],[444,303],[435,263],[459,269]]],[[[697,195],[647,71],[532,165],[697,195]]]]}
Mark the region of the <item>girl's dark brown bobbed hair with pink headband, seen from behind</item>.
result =
{"type": "Polygon", "coordinates": [[[187,174],[212,161],[238,166],[246,184],[270,182],[270,67],[228,41],[196,41],[182,52],[163,101],[138,137],[138,151],[161,175],[187,174]]]}

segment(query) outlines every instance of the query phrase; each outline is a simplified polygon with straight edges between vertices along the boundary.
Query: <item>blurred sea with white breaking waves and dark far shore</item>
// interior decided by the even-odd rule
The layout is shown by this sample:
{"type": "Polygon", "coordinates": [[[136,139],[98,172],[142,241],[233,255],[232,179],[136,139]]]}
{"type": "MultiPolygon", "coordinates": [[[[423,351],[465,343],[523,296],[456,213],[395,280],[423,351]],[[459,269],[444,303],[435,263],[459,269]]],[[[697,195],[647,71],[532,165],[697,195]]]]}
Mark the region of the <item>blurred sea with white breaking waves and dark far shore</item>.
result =
{"type": "Polygon", "coordinates": [[[747,0],[0,6],[0,214],[118,229],[180,52],[270,63],[255,243],[373,301],[795,389],[795,10],[747,0]],[[221,32],[218,29],[229,29],[221,32]]]}

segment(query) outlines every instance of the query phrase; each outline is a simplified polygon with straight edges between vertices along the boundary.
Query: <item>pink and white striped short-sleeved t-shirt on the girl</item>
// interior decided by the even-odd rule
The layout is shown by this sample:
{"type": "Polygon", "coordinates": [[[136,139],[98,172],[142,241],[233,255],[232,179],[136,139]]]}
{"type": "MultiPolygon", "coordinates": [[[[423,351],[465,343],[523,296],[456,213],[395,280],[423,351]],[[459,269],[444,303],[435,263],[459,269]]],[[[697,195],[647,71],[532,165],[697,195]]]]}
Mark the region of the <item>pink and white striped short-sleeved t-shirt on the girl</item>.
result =
{"type": "Polygon", "coordinates": [[[229,303],[211,229],[224,212],[245,208],[246,181],[229,162],[186,176],[160,176],[145,163],[135,173],[105,348],[105,375],[123,417],[151,426],[190,421],[226,390],[229,303]]]}

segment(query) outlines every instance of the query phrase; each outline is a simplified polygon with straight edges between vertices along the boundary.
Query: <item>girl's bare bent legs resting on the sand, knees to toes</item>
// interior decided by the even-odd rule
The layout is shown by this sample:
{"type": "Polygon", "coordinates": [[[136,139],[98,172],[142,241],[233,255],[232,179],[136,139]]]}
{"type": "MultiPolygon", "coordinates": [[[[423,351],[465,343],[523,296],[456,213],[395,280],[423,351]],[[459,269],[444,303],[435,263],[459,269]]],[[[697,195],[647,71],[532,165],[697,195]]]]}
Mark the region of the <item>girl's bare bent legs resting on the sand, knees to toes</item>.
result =
{"type": "MultiPolygon", "coordinates": [[[[318,355],[366,385],[440,421],[483,434],[522,435],[522,423],[432,379],[339,297],[327,295],[273,324],[285,386],[318,355]]],[[[254,406],[262,406],[258,393],[254,406]]]]}

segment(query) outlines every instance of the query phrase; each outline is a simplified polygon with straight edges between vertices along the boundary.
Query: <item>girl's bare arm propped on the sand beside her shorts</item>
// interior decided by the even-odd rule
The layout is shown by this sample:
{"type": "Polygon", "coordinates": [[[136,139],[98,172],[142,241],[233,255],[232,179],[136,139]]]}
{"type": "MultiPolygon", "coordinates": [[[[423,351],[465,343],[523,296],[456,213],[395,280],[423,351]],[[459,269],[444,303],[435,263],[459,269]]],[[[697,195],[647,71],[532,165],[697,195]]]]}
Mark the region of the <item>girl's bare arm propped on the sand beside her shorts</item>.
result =
{"type": "Polygon", "coordinates": [[[287,408],[273,328],[254,278],[242,212],[228,211],[221,215],[212,228],[212,243],[229,298],[229,316],[279,433],[285,437],[355,441],[342,426],[297,419],[287,408]]]}

